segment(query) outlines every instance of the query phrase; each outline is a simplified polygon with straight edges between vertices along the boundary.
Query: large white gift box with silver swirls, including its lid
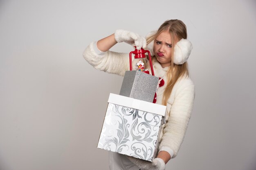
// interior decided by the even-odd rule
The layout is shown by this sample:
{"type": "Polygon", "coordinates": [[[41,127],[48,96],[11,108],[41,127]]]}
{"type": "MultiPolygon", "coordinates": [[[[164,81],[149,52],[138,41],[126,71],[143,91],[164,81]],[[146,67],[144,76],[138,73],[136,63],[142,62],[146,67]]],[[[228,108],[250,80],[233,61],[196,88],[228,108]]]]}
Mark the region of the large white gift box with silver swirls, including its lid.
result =
{"type": "Polygon", "coordinates": [[[152,161],[166,106],[110,94],[97,148],[152,161]]]}

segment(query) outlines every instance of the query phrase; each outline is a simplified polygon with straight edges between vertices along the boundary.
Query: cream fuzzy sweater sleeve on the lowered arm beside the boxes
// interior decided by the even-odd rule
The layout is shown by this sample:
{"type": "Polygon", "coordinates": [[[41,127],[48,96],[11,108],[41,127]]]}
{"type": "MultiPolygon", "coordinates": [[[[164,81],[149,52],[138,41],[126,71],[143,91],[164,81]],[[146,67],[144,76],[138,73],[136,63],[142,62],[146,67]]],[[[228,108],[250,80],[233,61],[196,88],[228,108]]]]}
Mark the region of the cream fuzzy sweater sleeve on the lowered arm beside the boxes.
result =
{"type": "MultiPolygon", "coordinates": [[[[174,158],[183,142],[195,98],[195,85],[180,87],[175,93],[168,122],[165,124],[160,150],[173,151],[174,158]]],[[[169,152],[170,153],[170,152],[169,152]]],[[[171,155],[171,154],[170,154],[171,155]]]]}

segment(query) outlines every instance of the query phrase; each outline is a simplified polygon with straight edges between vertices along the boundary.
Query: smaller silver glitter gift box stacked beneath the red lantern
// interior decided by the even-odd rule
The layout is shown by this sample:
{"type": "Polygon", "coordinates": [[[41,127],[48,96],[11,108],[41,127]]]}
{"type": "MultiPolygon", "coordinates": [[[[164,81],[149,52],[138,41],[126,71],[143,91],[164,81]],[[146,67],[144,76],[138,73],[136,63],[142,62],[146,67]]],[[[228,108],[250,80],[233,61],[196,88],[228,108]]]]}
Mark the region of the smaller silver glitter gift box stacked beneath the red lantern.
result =
{"type": "Polygon", "coordinates": [[[120,95],[153,102],[159,78],[141,71],[126,71],[120,95]]]}

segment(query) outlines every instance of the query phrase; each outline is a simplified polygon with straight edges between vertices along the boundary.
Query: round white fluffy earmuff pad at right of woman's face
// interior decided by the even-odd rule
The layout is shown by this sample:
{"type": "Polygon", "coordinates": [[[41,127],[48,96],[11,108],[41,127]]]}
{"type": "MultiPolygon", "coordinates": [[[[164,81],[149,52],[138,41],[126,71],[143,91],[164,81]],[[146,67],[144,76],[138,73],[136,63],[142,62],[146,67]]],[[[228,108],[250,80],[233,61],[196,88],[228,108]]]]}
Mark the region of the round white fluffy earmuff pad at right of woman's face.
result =
{"type": "Polygon", "coordinates": [[[173,63],[175,64],[185,63],[188,60],[192,49],[193,49],[193,46],[191,42],[187,39],[182,38],[174,46],[173,63]]]}

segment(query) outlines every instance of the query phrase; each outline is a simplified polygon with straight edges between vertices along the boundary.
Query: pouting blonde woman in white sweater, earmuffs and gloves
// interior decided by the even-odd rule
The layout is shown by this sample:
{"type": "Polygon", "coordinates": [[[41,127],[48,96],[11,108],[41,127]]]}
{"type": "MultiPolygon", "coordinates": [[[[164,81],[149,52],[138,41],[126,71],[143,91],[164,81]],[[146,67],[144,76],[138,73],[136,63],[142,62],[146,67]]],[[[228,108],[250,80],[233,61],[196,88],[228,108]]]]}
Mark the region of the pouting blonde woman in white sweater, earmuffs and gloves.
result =
{"type": "Polygon", "coordinates": [[[111,170],[164,170],[165,164],[176,157],[195,97],[195,86],[189,78],[186,62],[193,47],[186,38],[186,25],[182,21],[167,20],[147,39],[129,31],[117,30],[106,38],[92,42],[85,49],[83,56],[94,68],[124,76],[125,71],[129,70],[128,54],[109,49],[119,42],[135,45],[137,49],[147,47],[152,55],[155,76],[161,78],[155,102],[167,106],[167,115],[166,124],[162,126],[157,158],[151,163],[109,152],[111,170]]]}

